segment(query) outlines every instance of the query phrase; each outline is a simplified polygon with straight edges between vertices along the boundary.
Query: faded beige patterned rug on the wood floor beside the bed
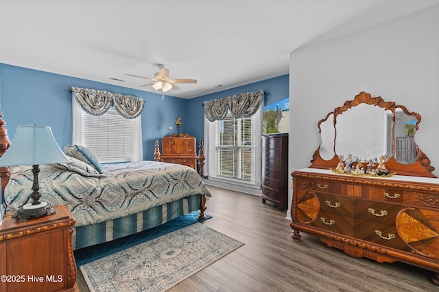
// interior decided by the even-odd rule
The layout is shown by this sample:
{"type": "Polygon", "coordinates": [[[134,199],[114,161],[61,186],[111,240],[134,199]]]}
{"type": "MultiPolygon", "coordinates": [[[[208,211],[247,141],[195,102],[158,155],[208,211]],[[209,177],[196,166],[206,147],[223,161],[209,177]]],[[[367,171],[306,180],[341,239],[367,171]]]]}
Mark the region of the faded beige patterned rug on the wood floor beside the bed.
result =
{"type": "Polygon", "coordinates": [[[242,245],[195,223],[80,269],[92,292],[166,291],[242,245]]]}

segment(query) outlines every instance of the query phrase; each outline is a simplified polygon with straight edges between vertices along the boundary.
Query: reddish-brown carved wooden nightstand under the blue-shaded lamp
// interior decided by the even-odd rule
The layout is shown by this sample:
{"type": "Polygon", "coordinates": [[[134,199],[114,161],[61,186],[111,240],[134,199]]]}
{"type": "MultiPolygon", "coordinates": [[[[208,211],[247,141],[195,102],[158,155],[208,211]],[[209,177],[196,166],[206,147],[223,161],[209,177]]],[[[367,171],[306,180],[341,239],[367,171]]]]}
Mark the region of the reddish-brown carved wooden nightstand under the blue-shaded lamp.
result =
{"type": "Polygon", "coordinates": [[[0,291],[79,291],[73,256],[75,220],[69,207],[20,222],[7,214],[0,226],[0,291]],[[4,276],[3,276],[4,275],[4,276]]]}

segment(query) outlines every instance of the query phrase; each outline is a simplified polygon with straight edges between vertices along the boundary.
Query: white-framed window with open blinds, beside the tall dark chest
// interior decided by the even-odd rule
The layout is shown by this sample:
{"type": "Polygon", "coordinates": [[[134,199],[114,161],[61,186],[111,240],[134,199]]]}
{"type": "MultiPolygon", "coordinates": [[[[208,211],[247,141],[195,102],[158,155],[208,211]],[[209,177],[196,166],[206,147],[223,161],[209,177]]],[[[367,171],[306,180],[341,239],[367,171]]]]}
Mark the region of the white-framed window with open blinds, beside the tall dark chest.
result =
{"type": "Polygon", "coordinates": [[[229,113],[224,120],[209,122],[209,180],[260,187],[261,109],[249,118],[229,113]]]}

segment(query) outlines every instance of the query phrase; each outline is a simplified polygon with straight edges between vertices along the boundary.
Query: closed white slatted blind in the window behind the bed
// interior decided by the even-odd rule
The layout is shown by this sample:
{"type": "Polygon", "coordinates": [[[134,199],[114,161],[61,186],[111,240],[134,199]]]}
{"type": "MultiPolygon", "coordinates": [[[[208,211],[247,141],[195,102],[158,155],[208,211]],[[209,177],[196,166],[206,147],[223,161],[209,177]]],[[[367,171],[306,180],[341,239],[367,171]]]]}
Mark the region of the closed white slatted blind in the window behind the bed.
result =
{"type": "Polygon", "coordinates": [[[82,145],[102,162],[130,161],[131,121],[123,118],[111,107],[102,116],[92,116],[85,111],[82,118],[82,145]]]}

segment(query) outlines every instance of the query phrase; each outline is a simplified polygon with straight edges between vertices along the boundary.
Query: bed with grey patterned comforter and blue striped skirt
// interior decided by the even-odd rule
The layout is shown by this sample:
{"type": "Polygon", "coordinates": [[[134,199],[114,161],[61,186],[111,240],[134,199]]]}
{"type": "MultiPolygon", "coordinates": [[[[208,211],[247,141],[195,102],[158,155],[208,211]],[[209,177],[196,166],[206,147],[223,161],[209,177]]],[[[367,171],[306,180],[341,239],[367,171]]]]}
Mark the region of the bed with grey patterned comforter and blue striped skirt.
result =
{"type": "MultiPolygon", "coordinates": [[[[90,153],[85,152],[86,159],[78,156],[78,149],[86,148],[69,147],[64,152],[71,163],[40,165],[38,178],[40,200],[66,204],[75,217],[73,249],[132,235],[197,210],[204,218],[211,193],[202,176],[186,165],[161,162],[157,141],[155,161],[132,163],[93,165],[90,153]]],[[[4,191],[7,213],[28,202],[31,168],[10,168],[4,191]]]]}

